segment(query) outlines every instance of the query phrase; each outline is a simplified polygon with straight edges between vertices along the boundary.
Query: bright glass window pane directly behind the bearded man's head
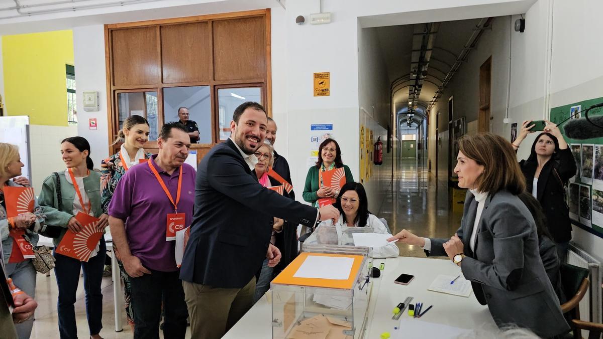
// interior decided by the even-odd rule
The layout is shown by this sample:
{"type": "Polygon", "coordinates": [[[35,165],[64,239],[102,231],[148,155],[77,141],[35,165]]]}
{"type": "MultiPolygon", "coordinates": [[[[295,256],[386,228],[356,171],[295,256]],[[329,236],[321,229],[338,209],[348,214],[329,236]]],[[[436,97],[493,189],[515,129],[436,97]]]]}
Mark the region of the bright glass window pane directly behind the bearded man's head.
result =
{"type": "Polygon", "coordinates": [[[236,89],[218,89],[219,138],[230,137],[230,122],[235,108],[245,101],[262,104],[261,87],[239,87],[236,89]]]}

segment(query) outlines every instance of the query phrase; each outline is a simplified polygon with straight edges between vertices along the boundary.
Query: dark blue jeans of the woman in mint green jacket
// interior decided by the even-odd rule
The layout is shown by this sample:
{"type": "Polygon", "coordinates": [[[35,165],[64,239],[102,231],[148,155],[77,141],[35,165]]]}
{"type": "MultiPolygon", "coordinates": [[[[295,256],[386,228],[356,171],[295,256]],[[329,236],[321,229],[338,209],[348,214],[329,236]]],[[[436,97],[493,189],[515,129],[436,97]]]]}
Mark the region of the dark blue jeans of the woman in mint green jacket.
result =
{"type": "Polygon", "coordinates": [[[80,269],[84,272],[84,291],[86,292],[86,317],[90,335],[96,335],[103,328],[103,293],[101,281],[107,255],[105,237],[101,238],[98,253],[87,263],[65,255],[54,253],[56,260],[54,275],[58,285],[58,332],[61,339],[77,338],[75,325],[75,292],[80,281],[80,269]]]}

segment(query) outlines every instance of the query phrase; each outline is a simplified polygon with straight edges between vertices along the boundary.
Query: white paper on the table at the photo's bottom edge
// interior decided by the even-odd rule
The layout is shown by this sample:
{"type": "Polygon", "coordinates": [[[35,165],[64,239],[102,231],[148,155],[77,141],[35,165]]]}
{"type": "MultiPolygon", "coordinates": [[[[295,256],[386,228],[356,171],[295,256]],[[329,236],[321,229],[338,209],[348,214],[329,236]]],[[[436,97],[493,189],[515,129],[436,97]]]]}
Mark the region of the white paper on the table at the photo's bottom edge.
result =
{"type": "MultiPolygon", "coordinates": [[[[450,281],[448,282],[450,284],[450,281]]],[[[456,284],[456,282],[455,282],[456,284]]],[[[456,338],[471,332],[470,329],[424,322],[420,319],[404,317],[400,319],[400,327],[393,332],[393,339],[402,338],[456,338]]]]}

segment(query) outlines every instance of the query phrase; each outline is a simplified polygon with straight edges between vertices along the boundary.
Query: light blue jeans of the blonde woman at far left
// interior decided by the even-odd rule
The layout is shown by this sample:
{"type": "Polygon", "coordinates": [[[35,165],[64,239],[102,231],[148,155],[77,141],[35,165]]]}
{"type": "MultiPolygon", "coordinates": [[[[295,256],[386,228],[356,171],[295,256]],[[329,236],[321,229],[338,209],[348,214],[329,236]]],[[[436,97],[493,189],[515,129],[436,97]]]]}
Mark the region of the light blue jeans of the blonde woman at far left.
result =
{"type": "MultiPolygon", "coordinates": [[[[36,269],[31,263],[31,259],[21,261],[21,263],[6,264],[6,275],[13,279],[14,285],[21,288],[28,296],[36,298],[36,269]]],[[[31,328],[34,326],[34,315],[25,322],[14,324],[19,339],[28,339],[31,335],[31,328]]]]}

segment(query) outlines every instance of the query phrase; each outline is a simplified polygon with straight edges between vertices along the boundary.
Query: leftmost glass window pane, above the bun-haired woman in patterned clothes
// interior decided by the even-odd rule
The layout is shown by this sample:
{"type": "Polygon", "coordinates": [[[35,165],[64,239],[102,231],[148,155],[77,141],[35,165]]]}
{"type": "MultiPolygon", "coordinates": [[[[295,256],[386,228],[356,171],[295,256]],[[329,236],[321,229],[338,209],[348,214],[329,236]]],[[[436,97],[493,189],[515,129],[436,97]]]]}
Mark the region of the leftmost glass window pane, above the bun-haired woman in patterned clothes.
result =
{"type": "Polygon", "coordinates": [[[118,93],[117,101],[119,129],[124,127],[127,117],[144,116],[150,125],[149,140],[157,140],[157,92],[118,93]]]}

